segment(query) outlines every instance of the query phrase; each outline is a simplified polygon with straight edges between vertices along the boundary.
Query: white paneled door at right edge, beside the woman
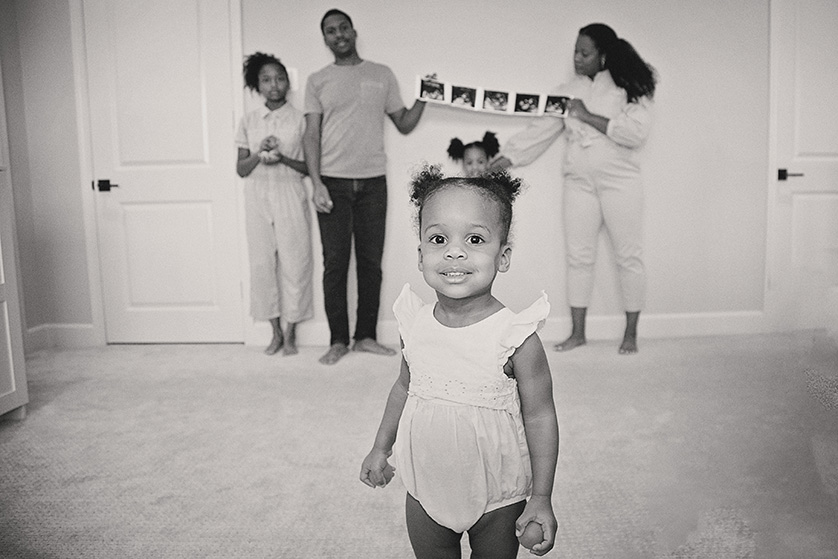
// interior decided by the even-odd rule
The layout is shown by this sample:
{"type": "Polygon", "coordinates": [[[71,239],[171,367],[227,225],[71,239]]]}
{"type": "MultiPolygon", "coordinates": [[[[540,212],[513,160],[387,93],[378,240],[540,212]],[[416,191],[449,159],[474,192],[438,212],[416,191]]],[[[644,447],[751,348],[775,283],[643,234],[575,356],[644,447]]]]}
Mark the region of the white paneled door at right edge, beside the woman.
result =
{"type": "Polygon", "coordinates": [[[771,1],[772,129],[766,308],[780,328],[838,313],[838,2],[771,1]]]}

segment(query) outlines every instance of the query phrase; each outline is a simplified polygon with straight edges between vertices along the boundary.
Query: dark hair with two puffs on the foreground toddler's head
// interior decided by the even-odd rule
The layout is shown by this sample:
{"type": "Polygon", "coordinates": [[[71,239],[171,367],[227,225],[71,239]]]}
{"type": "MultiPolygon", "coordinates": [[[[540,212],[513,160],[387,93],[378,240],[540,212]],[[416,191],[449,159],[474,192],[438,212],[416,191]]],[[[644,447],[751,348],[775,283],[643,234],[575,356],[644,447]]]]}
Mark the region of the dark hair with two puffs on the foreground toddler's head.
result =
{"type": "Polygon", "coordinates": [[[437,192],[453,186],[470,188],[497,203],[503,226],[503,242],[506,242],[512,227],[512,204],[524,187],[520,178],[513,177],[506,170],[493,171],[479,177],[446,177],[439,165],[425,164],[414,173],[410,188],[410,202],[416,208],[417,229],[421,228],[422,209],[427,201],[437,192]]]}

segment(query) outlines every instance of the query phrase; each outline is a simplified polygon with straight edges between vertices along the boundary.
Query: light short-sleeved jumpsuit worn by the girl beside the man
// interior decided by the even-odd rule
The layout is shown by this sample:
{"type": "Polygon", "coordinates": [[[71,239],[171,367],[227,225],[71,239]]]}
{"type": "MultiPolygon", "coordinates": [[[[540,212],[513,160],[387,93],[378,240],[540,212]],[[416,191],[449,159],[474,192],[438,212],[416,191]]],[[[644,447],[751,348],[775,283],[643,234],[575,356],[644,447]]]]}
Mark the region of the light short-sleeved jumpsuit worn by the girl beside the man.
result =
{"type": "MultiPolygon", "coordinates": [[[[279,151],[303,159],[305,118],[286,103],[246,114],[236,146],[258,153],[267,136],[279,151]]],[[[250,259],[250,314],[256,320],[282,317],[289,323],[314,315],[311,213],[303,175],[283,164],[260,163],[245,177],[245,228],[250,259]]]]}

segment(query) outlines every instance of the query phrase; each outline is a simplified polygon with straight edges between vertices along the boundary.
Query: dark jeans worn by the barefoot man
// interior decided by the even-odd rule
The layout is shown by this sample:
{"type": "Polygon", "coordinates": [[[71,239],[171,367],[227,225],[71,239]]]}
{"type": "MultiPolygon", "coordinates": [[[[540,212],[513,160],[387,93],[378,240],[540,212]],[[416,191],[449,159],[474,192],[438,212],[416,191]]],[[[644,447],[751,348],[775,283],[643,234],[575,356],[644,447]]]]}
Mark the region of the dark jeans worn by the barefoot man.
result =
{"type": "Polygon", "coordinates": [[[322,177],[332,197],[331,213],[318,213],[323,243],[323,296],[331,330],[330,344],[349,345],[346,282],[352,239],[358,278],[358,314],[354,339],[376,339],[381,295],[381,256],[387,217],[387,179],[322,177]]]}

